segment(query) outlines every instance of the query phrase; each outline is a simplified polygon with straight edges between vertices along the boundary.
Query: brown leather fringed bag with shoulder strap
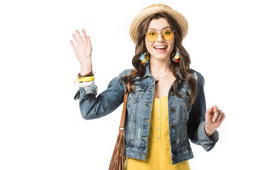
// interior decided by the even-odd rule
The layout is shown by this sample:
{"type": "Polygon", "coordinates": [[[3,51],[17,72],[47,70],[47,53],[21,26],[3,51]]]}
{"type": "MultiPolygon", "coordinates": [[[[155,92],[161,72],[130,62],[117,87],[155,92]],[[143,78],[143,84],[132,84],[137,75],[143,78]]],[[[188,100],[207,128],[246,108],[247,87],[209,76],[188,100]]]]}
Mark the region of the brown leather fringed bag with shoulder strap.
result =
{"type": "MultiPolygon", "coordinates": [[[[132,69],[131,74],[134,74],[135,70],[132,69]]],[[[125,170],[125,137],[124,137],[124,126],[125,126],[125,111],[126,111],[126,103],[129,94],[129,82],[128,82],[128,93],[124,96],[124,104],[122,109],[121,122],[119,126],[119,134],[116,139],[115,148],[113,151],[113,155],[110,161],[110,165],[108,170],[125,170]]]]}

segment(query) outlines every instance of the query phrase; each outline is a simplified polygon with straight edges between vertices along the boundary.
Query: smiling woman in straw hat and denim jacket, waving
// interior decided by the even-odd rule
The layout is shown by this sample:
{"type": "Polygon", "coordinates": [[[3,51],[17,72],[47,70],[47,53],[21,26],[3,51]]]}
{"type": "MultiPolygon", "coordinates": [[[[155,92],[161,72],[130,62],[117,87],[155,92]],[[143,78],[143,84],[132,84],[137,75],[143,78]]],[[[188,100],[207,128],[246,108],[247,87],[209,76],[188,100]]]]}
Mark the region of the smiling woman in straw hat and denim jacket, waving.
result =
{"type": "Polygon", "coordinates": [[[122,104],[130,84],[125,114],[126,170],[189,170],[192,143],[211,150],[218,142],[216,130],[225,114],[216,106],[206,110],[204,77],[190,69],[190,57],[182,40],[188,24],[177,11],[163,4],[144,8],[131,23],[130,36],[136,44],[131,69],[114,77],[96,97],[93,82],[90,38],[82,30],[71,40],[81,63],[81,75],[74,97],[84,119],[97,119],[122,104]]]}

